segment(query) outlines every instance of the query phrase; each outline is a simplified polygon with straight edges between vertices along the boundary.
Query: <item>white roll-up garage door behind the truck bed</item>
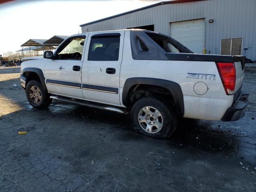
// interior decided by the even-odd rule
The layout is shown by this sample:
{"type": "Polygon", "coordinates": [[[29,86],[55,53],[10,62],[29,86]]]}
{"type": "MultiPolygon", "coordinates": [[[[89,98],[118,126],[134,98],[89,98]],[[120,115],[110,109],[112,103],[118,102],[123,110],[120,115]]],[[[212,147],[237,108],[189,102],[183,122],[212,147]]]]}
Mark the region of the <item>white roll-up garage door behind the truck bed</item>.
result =
{"type": "Polygon", "coordinates": [[[203,53],[205,39],[204,19],[170,23],[171,37],[194,53],[203,53]]]}

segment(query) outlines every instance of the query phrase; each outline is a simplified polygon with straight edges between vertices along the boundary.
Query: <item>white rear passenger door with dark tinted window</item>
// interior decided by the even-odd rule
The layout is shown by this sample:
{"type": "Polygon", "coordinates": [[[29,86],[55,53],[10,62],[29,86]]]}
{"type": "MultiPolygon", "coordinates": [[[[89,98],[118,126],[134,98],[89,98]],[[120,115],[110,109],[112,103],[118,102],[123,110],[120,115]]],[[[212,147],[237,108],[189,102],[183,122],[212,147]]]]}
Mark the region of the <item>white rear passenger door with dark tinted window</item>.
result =
{"type": "Polygon", "coordinates": [[[124,31],[89,34],[82,67],[82,92],[86,100],[120,106],[123,41],[124,31]]]}

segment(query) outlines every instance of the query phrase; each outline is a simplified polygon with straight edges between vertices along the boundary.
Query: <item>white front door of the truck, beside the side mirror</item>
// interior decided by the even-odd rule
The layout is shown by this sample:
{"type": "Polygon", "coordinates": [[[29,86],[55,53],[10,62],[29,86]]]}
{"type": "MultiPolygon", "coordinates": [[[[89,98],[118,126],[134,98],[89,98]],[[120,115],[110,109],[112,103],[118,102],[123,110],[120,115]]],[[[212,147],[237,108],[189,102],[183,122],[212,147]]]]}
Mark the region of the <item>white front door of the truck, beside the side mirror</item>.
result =
{"type": "Polygon", "coordinates": [[[45,81],[48,92],[83,98],[81,69],[85,36],[74,36],[63,42],[54,52],[54,60],[47,60],[45,81]]]}

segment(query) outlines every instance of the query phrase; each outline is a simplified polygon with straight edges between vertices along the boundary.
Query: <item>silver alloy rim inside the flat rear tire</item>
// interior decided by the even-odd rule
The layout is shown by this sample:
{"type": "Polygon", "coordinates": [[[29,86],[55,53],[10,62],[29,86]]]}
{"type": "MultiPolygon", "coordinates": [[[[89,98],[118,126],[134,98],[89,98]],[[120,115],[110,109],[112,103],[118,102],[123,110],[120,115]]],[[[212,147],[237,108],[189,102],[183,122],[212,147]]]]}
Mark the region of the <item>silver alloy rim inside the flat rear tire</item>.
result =
{"type": "Polygon", "coordinates": [[[138,114],[140,127],[150,134],[159,132],[163,127],[162,114],[154,107],[143,107],[138,114]]]}

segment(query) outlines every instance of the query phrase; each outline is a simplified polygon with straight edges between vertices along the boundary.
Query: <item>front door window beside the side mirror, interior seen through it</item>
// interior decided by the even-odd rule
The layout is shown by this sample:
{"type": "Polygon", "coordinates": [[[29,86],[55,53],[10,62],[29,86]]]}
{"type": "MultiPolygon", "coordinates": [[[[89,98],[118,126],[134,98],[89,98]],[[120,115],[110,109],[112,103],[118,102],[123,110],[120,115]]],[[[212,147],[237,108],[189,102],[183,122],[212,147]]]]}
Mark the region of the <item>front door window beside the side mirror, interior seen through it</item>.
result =
{"type": "Polygon", "coordinates": [[[84,37],[70,38],[60,48],[58,48],[57,58],[81,60],[84,40],[84,37]]]}

